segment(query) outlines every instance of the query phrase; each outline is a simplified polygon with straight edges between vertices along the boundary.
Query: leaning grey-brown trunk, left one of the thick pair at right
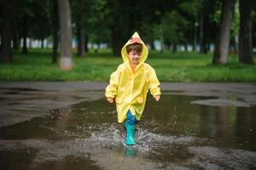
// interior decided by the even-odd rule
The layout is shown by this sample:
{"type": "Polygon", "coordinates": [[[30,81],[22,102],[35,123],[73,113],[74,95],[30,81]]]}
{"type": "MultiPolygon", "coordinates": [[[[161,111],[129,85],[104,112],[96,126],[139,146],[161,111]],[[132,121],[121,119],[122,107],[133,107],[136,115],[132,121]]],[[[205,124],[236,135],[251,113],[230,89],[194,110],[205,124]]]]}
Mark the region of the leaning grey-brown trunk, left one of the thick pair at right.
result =
{"type": "Polygon", "coordinates": [[[232,13],[236,0],[223,0],[221,17],[220,17],[220,32],[217,37],[219,40],[214,49],[212,64],[225,64],[228,60],[229,45],[230,45],[230,28],[232,24],[232,13]]]}

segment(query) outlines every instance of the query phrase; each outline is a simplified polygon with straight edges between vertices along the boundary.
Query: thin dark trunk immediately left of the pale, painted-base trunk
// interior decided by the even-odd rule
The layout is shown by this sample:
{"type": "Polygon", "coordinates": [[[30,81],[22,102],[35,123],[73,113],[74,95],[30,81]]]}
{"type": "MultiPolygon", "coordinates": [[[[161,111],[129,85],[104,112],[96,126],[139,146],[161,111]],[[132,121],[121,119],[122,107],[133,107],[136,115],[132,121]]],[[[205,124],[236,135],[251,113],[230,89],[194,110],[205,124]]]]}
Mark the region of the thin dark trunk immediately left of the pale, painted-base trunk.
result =
{"type": "Polygon", "coordinates": [[[59,31],[59,13],[58,13],[58,2],[57,0],[53,1],[53,12],[52,12],[52,36],[53,36],[53,50],[51,63],[56,64],[58,59],[58,31],[59,31]]]}

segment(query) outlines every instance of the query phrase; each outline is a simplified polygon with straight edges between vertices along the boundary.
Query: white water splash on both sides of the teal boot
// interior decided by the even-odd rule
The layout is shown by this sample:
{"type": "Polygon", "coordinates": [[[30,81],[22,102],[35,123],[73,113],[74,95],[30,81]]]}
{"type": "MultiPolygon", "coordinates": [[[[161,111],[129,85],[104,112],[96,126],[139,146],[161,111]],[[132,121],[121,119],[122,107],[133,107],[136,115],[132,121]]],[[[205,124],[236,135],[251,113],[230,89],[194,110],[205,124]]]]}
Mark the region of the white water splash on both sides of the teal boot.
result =
{"type": "MultiPolygon", "coordinates": [[[[135,133],[136,144],[132,146],[140,153],[152,152],[156,148],[167,148],[172,144],[191,145],[198,139],[191,136],[165,136],[157,133],[152,133],[143,127],[137,127],[135,133]]],[[[125,130],[117,123],[105,124],[101,131],[91,133],[89,138],[85,138],[84,141],[90,142],[94,146],[103,147],[126,147],[125,144],[125,130]]]]}

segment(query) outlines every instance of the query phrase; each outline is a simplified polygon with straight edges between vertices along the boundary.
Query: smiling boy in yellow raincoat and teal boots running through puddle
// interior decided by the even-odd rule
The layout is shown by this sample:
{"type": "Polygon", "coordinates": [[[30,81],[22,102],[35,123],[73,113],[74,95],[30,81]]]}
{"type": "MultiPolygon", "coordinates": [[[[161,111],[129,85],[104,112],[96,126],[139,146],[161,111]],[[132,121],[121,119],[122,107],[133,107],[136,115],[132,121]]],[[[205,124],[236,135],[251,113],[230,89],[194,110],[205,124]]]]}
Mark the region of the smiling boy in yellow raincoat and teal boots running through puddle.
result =
{"type": "Polygon", "coordinates": [[[160,82],[154,69],[144,63],[148,57],[148,48],[137,32],[125,43],[121,54],[124,63],[111,74],[105,95],[109,103],[115,100],[118,122],[125,121],[126,144],[132,145],[135,144],[135,125],[143,115],[148,88],[158,101],[160,82]]]}

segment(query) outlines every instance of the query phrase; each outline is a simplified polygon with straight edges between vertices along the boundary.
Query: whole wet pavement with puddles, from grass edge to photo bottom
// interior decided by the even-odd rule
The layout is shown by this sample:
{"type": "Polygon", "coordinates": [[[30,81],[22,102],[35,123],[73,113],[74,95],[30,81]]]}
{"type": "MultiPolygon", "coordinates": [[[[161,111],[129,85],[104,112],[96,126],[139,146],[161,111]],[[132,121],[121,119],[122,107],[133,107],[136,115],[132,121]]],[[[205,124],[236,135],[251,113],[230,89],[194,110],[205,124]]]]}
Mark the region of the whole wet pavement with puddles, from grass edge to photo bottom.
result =
{"type": "Polygon", "coordinates": [[[255,169],[256,84],[162,83],[125,145],[105,82],[1,82],[1,169],[255,169]]]}

